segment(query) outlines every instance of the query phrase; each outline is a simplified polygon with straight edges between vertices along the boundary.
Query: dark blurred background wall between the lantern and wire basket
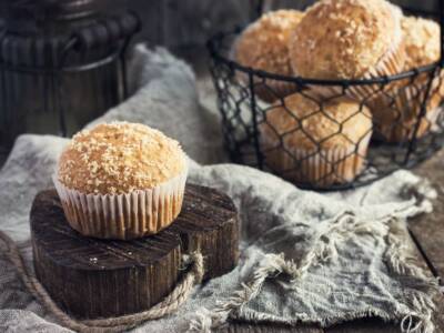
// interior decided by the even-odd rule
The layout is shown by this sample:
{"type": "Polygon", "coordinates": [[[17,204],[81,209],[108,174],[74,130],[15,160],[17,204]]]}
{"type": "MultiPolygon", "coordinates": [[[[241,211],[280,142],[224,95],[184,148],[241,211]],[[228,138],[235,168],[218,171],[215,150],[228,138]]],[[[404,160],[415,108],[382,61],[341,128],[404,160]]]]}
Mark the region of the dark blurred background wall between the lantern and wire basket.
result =
{"type": "MultiPolygon", "coordinates": [[[[110,1],[110,0],[108,0],[110,1]]],[[[372,1],[372,0],[369,0],[372,1]]],[[[312,0],[264,0],[265,10],[304,8],[312,0]]],[[[438,0],[392,1],[413,9],[433,11],[438,0]]],[[[143,20],[139,39],[169,48],[203,44],[215,31],[252,20],[258,0],[114,0],[137,11],[143,20]]]]}

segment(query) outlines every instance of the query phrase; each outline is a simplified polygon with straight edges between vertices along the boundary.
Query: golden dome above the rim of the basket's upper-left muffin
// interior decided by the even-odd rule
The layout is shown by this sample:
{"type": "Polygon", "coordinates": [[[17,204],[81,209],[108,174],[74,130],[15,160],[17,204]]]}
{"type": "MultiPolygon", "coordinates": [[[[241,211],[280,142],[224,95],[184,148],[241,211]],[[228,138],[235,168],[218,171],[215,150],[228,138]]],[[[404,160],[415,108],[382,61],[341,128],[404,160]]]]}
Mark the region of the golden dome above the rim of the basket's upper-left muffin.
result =
{"type": "Polygon", "coordinates": [[[292,73],[289,40],[303,13],[278,10],[250,24],[235,43],[235,59],[243,65],[287,75],[292,73]]]}

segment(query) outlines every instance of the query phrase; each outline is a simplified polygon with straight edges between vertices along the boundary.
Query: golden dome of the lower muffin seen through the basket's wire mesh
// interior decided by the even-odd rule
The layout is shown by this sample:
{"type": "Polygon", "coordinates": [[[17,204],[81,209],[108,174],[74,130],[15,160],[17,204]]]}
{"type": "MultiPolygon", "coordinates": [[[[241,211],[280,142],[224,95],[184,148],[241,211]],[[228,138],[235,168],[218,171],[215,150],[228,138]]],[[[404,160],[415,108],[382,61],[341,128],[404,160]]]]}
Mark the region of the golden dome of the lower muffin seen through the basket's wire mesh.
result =
{"type": "Polygon", "coordinates": [[[321,109],[311,98],[294,93],[284,103],[270,109],[260,127],[266,143],[275,145],[282,138],[290,148],[350,147],[372,131],[369,109],[347,98],[324,102],[321,109]]]}

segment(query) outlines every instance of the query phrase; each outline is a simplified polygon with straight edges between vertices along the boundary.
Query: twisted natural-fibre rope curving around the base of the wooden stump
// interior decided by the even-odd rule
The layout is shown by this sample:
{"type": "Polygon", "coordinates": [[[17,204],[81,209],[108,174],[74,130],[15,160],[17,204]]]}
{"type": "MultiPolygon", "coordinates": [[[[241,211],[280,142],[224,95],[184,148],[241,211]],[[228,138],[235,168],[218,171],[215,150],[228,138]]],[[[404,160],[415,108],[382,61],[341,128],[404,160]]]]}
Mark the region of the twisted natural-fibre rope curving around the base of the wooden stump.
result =
{"type": "Polygon", "coordinates": [[[189,265],[188,273],[168,296],[150,310],[118,317],[78,321],[63,312],[63,310],[52,301],[43,285],[37,280],[33,273],[28,270],[23,256],[14,241],[2,231],[0,231],[0,239],[7,245],[6,258],[14,265],[28,291],[60,322],[60,324],[78,332],[122,332],[138,326],[145,321],[171,314],[186,301],[193,286],[202,282],[204,273],[203,256],[201,253],[194,252],[184,255],[183,262],[189,265]]]}

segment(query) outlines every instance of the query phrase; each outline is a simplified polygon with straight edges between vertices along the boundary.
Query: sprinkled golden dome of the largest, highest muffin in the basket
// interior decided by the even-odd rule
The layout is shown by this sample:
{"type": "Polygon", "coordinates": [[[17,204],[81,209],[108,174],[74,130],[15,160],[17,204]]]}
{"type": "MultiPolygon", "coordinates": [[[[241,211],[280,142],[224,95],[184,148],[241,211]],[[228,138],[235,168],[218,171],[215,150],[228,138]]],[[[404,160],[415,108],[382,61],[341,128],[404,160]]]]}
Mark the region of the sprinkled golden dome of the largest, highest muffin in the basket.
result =
{"type": "Polygon", "coordinates": [[[401,18],[385,0],[319,1],[291,38],[293,71],[314,79],[362,78],[402,46],[401,18]]]}

